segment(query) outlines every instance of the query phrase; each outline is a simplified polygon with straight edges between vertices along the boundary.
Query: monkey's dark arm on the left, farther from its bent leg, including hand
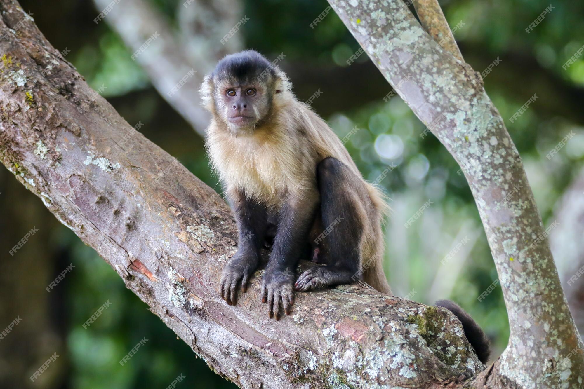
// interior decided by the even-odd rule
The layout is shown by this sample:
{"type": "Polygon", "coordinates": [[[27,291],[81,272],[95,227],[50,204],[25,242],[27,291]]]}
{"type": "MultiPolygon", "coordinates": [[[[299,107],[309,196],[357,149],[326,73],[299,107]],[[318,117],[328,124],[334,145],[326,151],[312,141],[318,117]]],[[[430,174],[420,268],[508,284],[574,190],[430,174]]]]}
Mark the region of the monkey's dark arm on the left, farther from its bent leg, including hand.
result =
{"type": "Polygon", "coordinates": [[[237,304],[237,289],[245,293],[249,277],[258,268],[266,227],[267,211],[263,204],[246,199],[245,194],[230,193],[231,208],[235,214],[239,242],[237,253],[231,257],[221,273],[220,293],[227,304],[237,304]]]}

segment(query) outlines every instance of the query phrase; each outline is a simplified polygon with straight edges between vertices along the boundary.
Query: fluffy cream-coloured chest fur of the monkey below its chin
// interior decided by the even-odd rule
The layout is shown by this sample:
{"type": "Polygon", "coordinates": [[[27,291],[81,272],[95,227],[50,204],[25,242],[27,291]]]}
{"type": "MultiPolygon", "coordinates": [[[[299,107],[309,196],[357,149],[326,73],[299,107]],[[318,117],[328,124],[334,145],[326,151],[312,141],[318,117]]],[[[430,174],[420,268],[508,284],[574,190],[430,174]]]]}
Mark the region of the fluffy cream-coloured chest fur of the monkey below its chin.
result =
{"type": "Polygon", "coordinates": [[[209,143],[211,162],[222,182],[268,205],[280,206],[288,193],[310,185],[315,175],[309,158],[298,158],[292,140],[217,137],[209,143]]]}

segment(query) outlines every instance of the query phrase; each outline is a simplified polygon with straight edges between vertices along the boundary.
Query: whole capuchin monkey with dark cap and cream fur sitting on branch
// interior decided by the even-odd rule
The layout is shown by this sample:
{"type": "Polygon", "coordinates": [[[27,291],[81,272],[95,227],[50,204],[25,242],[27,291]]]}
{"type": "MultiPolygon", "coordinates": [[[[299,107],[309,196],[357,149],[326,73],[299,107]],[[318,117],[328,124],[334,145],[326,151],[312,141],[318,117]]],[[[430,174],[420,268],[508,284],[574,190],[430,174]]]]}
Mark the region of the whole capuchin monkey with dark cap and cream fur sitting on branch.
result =
{"type": "Polygon", "coordinates": [[[220,280],[227,304],[246,291],[266,242],[261,295],[270,318],[282,308],[290,314],[294,290],[363,280],[391,295],[382,265],[387,202],[328,124],[295,98],[284,72],[253,50],[227,55],[204,78],[201,98],[212,114],[207,152],[239,233],[220,280]],[[322,266],[297,278],[301,257],[322,266]]]}

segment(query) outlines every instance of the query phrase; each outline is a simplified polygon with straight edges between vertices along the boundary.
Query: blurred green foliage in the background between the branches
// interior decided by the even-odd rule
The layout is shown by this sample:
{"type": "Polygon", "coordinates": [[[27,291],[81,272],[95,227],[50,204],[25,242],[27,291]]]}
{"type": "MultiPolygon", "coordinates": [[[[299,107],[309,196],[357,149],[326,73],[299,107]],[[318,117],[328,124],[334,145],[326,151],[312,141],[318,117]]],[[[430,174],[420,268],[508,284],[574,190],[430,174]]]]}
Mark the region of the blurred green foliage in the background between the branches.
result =
{"type": "MultiPolygon", "coordinates": [[[[182,6],[174,0],[153,3],[171,19],[182,6]]],[[[464,23],[456,32],[456,40],[475,70],[484,70],[495,58],[502,59],[485,78],[485,88],[522,155],[544,224],[548,225],[555,201],[582,165],[584,155],[584,60],[581,57],[568,70],[562,69],[584,44],[584,3],[562,0],[553,4],[554,9],[530,33],[525,29],[549,2],[450,0],[442,4],[451,26],[464,23]],[[510,123],[507,118],[533,93],[540,98],[519,120],[510,123]],[[571,130],[576,134],[573,140],[548,160],[546,154],[571,130]]],[[[324,0],[246,0],[245,14],[250,21],[239,33],[246,47],[256,48],[269,58],[286,53],[281,63],[284,69],[298,63],[317,70],[347,67],[345,61],[359,45],[335,13],[331,11],[314,29],[310,27],[327,6],[324,0]]],[[[176,115],[171,117],[165,103],[152,95],[148,78],[130,60],[130,50],[106,23],[95,27],[92,39],[81,41],[68,60],[94,88],[107,85],[105,96],[112,98],[130,124],[141,120],[145,136],[175,155],[208,185],[216,185],[202,140],[176,115]],[[131,108],[127,100],[132,101],[131,108]],[[189,137],[188,141],[184,137],[189,137]]],[[[366,61],[369,58],[362,55],[358,62],[366,61]]],[[[293,82],[298,86],[303,80],[293,82]]],[[[343,84],[343,79],[336,82],[343,84]]],[[[335,99],[350,99],[352,88],[369,87],[347,85],[343,96],[327,95],[324,89],[314,107],[318,112],[319,104],[327,99],[334,106],[335,99]]],[[[388,85],[387,92],[390,90],[388,85]]],[[[346,147],[367,179],[373,181],[387,166],[395,165],[380,183],[394,209],[386,226],[385,264],[394,293],[405,296],[413,290],[413,300],[429,304],[437,298],[457,301],[492,336],[496,352],[501,352],[509,330],[500,287],[483,301],[477,299],[497,274],[466,180],[436,138],[431,134],[420,137],[425,126],[398,96],[388,102],[382,98],[354,101],[353,109],[333,112],[325,119],[339,137],[357,128],[346,147]],[[428,199],[433,205],[406,230],[405,221],[428,199]],[[477,238],[458,253],[462,258],[458,258],[456,276],[449,279],[454,269],[440,261],[460,237],[473,234],[477,238]],[[435,295],[430,290],[444,294],[435,295]]],[[[67,344],[73,387],[166,387],[180,373],[186,376],[182,387],[232,385],[211,373],[185,343],[176,340],[164,322],[125,289],[116,272],[95,252],[67,229],[62,228],[59,234],[61,244],[69,248],[78,266],[67,291],[67,344]],[[85,320],[107,300],[112,305],[95,324],[83,329],[85,320]],[[149,339],[146,345],[126,366],[120,366],[121,357],[144,336],[149,339]]]]}

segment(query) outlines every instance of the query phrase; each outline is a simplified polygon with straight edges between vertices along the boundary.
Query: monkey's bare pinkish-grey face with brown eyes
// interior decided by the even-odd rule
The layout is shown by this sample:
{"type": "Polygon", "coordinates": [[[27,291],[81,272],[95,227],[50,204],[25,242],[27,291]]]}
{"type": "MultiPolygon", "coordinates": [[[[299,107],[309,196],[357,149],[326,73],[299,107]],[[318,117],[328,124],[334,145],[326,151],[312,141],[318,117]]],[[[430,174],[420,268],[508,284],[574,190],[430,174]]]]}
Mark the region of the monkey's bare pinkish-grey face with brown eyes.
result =
{"type": "Polygon", "coordinates": [[[251,135],[269,110],[266,88],[255,82],[219,82],[215,95],[220,116],[235,136],[251,135]]]}

